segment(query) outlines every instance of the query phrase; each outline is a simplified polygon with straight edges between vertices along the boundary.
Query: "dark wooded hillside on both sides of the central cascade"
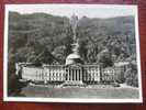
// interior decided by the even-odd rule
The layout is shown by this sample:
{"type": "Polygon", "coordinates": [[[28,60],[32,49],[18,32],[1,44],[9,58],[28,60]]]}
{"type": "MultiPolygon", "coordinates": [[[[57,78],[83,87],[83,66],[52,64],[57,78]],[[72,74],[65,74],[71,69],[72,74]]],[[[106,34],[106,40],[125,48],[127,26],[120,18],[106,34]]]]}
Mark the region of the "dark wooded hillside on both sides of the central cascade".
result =
{"type": "MultiPolygon", "coordinates": [[[[134,18],[79,20],[77,37],[86,63],[132,59],[135,56],[134,18]]],[[[9,13],[9,62],[64,64],[71,53],[69,18],[46,13],[9,13]]],[[[135,58],[135,57],[134,57],[135,58]]]]}

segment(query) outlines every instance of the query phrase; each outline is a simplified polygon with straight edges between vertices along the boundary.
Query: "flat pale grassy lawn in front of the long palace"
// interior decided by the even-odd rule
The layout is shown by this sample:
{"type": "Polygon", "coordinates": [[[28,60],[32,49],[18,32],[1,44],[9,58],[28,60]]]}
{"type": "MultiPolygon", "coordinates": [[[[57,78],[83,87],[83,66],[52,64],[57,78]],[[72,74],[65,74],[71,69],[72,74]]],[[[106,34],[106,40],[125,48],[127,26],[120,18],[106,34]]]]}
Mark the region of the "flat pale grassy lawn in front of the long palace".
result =
{"type": "Polygon", "coordinates": [[[26,97],[47,98],[112,98],[126,99],[138,98],[138,89],[132,87],[112,87],[98,85],[92,88],[50,88],[45,86],[27,86],[22,89],[22,95],[26,97]]]}

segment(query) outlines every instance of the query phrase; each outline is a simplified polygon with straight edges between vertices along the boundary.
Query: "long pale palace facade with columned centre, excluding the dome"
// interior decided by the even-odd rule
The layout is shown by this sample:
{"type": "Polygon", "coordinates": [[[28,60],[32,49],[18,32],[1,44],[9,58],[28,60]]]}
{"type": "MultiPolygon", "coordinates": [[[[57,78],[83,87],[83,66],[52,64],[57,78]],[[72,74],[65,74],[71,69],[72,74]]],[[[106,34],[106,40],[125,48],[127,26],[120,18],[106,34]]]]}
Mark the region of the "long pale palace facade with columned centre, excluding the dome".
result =
{"type": "MultiPolygon", "coordinates": [[[[18,66],[18,65],[16,65],[18,66]]],[[[99,65],[32,65],[21,66],[21,78],[36,84],[101,84],[121,80],[124,69],[121,67],[101,68],[99,65]]],[[[19,73],[16,70],[16,73],[19,73]]]]}

